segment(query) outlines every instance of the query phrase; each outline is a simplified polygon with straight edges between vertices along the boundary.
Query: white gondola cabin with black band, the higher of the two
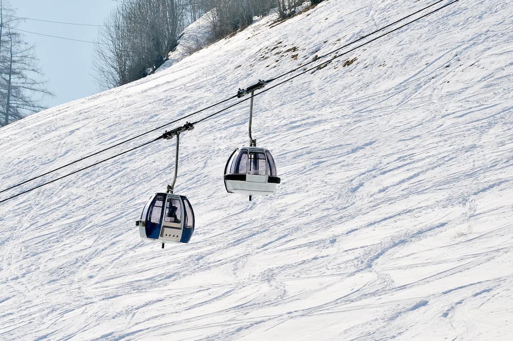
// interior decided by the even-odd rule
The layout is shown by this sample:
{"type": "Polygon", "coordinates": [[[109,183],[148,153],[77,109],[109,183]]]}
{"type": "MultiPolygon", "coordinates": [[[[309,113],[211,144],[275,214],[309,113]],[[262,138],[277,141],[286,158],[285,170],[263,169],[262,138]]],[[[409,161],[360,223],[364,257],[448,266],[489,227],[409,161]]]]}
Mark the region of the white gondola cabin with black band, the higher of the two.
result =
{"type": "Polygon", "coordinates": [[[274,193],[281,179],[267,149],[243,147],[233,151],[226,162],[224,181],[228,193],[248,195],[251,200],[252,196],[274,193]]]}

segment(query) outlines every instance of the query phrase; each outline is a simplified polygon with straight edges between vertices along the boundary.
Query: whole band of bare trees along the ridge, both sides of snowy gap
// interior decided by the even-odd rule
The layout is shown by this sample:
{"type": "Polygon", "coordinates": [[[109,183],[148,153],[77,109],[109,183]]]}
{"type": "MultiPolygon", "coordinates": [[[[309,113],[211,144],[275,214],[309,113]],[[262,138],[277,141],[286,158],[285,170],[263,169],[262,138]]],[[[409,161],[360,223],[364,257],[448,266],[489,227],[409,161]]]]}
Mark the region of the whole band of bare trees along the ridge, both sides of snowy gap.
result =
{"type": "Polygon", "coordinates": [[[254,16],[277,4],[284,9],[299,0],[125,0],[99,32],[95,69],[103,89],[145,77],[162,65],[182,30],[210,11],[213,40],[249,26],[254,16]]]}

